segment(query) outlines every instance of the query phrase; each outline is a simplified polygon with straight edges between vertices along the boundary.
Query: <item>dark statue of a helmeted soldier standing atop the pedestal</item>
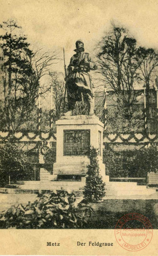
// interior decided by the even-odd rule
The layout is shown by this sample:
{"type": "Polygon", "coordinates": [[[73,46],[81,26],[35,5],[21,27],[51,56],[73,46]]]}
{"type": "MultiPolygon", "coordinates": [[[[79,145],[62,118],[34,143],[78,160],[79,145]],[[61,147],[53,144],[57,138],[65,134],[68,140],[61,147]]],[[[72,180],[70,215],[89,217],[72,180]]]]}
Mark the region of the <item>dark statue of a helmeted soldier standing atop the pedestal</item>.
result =
{"type": "Polygon", "coordinates": [[[87,103],[88,114],[94,114],[92,81],[89,74],[90,70],[97,67],[91,61],[89,53],[84,52],[84,44],[82,40],[76,41],[76,54],[73,55],[68,65],[66,77],[68,111],[66,116],[71,116],[75,108],[76,101],[83,99],[87,103]]]}

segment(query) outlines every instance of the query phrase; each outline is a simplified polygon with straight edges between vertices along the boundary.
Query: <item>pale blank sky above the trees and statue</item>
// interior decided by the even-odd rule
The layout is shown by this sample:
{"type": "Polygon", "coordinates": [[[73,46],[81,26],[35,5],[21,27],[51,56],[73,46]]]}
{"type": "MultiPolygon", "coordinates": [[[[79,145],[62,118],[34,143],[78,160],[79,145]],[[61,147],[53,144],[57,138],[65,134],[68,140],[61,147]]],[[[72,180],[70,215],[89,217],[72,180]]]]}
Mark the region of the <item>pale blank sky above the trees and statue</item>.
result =
{"type": "MultiPolygon", "coordinates": [[[[158,0],[0,0],[0,23],[15,19],[29,43],[58,50],[65,59],[82,39],[85,51],[93,49],[110,22],[125,26],[137,43],[158,49],[158,0]]],[[[64,72],[63,62],[55,67],[64,72]]]]}

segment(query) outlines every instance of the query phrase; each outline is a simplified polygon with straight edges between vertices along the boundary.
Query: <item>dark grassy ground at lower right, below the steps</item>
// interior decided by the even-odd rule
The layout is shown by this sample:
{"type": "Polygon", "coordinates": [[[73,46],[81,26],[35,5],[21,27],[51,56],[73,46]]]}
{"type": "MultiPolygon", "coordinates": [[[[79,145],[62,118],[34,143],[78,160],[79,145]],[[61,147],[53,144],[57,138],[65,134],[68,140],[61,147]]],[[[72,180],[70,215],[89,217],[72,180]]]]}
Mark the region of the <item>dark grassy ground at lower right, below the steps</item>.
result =
{"type": "Polygon", "coordinates": [[[100,203],[91,203],[91,206],[94,213],[87,228],[114,229],[117,221],[125,214],[140,213],[150,220],[153,229],[158,229],[157,199],[107,199],[100,203]]]}

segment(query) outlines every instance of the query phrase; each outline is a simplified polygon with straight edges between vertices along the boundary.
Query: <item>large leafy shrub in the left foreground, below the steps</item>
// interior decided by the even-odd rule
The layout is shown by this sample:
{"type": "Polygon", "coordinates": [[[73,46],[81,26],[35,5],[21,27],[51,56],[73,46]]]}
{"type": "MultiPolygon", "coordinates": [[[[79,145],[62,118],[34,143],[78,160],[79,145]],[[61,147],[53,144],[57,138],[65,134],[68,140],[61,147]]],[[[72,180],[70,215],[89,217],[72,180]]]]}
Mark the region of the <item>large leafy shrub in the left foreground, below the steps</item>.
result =
{"type": "Polygon", "coordinates": [[[0,216],[1,228],[84,228],[93,212],[89,205],[77,204],[74,193],[65,190],[40,194],[26,206],[17,204],[0,216]]]}

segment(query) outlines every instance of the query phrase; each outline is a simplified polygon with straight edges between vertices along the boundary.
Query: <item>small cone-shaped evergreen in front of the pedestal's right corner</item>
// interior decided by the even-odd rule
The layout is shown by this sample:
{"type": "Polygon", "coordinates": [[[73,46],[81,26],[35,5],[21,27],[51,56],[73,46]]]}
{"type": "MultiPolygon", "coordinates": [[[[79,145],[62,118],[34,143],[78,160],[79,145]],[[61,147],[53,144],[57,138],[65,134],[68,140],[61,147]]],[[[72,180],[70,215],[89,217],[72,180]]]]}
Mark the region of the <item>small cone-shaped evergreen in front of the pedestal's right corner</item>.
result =
{"type": "Polygon", "coordinates": [[[98,202],[105,195],[105,183],[99,173],[98,153],[94,147],[90,148],[90,164],[87,166],[86,185],[84,187],[84,198],[89,202],[98,202]]]}

